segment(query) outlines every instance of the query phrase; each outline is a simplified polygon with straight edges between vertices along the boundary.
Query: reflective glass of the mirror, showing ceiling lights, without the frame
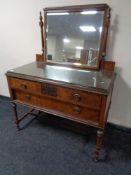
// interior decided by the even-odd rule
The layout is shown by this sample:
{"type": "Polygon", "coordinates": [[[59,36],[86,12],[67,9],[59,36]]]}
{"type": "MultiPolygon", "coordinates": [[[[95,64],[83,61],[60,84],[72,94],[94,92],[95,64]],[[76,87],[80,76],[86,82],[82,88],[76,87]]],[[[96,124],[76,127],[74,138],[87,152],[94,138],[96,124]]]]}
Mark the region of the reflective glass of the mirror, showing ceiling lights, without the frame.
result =
{"type": "Polygon", "coordinates": [[[47,60],[96,67],[104,11],[47,12],[47,60]]]}

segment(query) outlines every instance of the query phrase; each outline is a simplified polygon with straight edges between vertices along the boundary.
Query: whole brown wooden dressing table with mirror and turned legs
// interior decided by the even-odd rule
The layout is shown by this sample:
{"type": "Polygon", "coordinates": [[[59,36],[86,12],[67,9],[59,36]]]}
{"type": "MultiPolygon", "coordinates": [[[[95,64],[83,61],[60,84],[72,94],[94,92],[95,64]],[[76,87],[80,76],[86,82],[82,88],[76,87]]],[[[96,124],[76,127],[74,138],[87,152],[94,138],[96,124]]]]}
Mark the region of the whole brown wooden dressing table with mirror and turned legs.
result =
{"type": "Polygon", "coordinates": [[[34,109],[91,126],[99,159],[115,80],[104,59],[109,23],[107,4],[45,8],[44,22],[40,13],[42,54],[6,73],[18,130],[34,109]],[[20,118],[17,104],[32,110],[20,118]]]}

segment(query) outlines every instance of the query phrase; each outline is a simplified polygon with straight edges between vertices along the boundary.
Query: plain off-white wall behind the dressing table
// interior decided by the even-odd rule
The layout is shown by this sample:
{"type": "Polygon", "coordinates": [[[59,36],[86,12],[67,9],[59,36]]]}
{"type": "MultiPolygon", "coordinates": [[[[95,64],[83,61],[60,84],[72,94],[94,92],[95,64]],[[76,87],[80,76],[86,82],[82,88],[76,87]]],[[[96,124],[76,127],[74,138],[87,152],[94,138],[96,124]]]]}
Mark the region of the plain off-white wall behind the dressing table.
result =
{"type": "Polygon", "coordinates": [[[131,127],[131,0],[0,0],[0,94],[9,95],[4,73],[40,53],[40,10],[104,2],[112,8],[108,58],[116,61],[118,72],[109,121],[131,127]]]}

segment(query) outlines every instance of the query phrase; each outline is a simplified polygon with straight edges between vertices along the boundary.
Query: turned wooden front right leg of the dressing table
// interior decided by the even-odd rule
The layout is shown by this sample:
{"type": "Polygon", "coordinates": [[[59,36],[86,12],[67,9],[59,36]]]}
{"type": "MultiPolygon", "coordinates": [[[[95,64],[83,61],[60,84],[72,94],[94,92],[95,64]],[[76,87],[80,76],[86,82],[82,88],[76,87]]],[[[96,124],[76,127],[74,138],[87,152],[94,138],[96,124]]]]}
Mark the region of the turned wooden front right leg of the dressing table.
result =
{"type": "Polygon", "coordinates": [[[95,161],[99,160],[99,152],[100,152],[100,146],[101,146],[101,143],[102,143],[102,138],[103,138],[103,131],[102,130],[97,130],[95,161]]]}

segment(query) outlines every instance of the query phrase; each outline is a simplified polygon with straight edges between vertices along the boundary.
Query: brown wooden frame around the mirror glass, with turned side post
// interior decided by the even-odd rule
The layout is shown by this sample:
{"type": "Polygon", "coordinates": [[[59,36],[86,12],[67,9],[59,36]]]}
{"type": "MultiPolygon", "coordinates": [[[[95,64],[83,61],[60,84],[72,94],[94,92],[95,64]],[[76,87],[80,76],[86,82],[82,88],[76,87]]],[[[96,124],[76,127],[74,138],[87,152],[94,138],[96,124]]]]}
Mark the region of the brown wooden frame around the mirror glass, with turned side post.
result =
{"type": "Polygon", "coordinates": [[[42,37],[42,51],[43,51],[43,57],[44,62],[46,64],[51,65],[59,65],[59,66],[67,66],[67,67],[75,67],[80,69],[89,69],[89,70],[99,70],[100,69],[100,63],[101,60],[103,60],[106,56],[106,46],[107,46],[107,36],[108,36],[108,29],[110,25],[110,7],[107,4],[89,4],[89,5],[76,5],[76,6],[63,6],[63,7],[47,7],[44,8],[44,23],[42,25],[42,16],[40,13],[40,27],[41,27],[41,37],[42,37]],[[100,46],[99,46],[99,54],[98,54],[98,61],[97,66],[88,66],[88,65],[73,65],[73,64],[66,64],[66,63],[58,63],[58,62],[49,62],[47,61],[47,33],[46,33],[46,27],[47,27],[47,13],[48,12],[81,12],[82,10],[96,10],[96,11],[103,11],[103,30],[101,32],[100,36],[100,46]],[[44,26],[44,31],[43,31],[44,26]]]}

